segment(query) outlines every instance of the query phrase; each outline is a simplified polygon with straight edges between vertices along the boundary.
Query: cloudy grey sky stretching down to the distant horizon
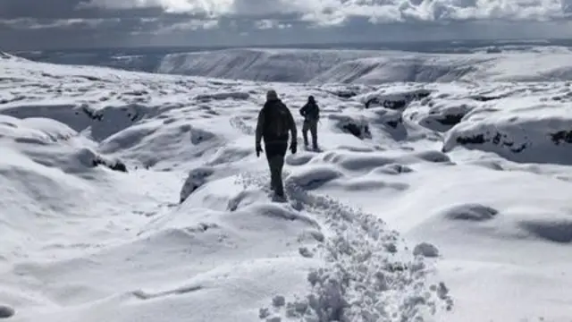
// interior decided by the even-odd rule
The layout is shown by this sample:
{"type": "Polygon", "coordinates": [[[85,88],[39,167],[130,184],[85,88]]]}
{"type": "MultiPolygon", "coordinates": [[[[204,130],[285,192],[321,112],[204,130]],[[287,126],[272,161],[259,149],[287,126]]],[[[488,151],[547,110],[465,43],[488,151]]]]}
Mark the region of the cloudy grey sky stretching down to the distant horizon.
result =
{"type": "Polygon", "coordinates": [[[572,0],[0,0],[0,50],[572,38],[572,0]]]}

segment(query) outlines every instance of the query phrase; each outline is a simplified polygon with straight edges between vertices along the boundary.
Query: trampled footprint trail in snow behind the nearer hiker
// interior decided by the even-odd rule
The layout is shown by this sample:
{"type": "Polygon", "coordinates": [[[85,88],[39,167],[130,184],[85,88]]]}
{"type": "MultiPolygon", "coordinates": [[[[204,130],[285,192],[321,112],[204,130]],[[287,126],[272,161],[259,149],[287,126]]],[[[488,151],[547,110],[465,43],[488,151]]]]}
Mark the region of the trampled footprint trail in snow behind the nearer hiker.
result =
{"type": "MultiPolygon", "coordinates": [[[[267,174],[241,174],[245,188],[257,186],[270,194],[267,174]]],[[[311,292],[286,301],[281,295],[271,308],[260,309],[269,322],[428,321],[452,301],[444,284],[428,284],[429,258],[414,256],[399,233],[382,220],[304,191],[287,178],[291,207],[315,216],[324,228],[324,241],[306,257],[323,258],[326,265],[307,276],[311,292]]],[[[288,205],[288,204],[287,204],[288,205]]],[[[290,207],[285,206],[285,207],[290,207]]]]}

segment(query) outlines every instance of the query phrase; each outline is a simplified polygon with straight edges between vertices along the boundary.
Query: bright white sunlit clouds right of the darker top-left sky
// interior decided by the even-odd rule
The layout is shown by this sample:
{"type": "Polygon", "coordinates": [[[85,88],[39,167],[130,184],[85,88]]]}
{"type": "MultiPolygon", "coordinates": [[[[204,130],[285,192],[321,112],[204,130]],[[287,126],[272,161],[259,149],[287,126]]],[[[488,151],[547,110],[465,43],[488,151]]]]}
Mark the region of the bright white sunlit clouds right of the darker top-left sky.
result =
{"type": "Polygon", "coordinates": [[[297,13],[303,21],[335,25],[350,17],[372,23],[450,20],[561,19],[572,0],[92,0],[109,8],[162,7],[168,13],[279,15],[297,13]]]}

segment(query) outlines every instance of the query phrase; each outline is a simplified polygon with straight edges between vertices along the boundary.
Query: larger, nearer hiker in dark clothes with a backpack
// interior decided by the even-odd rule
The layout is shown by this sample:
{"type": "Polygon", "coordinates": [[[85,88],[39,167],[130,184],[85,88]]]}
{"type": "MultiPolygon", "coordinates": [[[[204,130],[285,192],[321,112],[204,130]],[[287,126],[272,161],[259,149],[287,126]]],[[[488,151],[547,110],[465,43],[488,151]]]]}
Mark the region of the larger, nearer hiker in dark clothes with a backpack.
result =
{"type": "Polygon", "coordinates": [[[288,149],[288,132],[290,131],[290,151],[296,153],[297,131],[294,117],[288,107],[278,98],[276,91],[268,90],[265,105],[258,113],[256,149],[257,157],[263,152],[260,140],[265,140],[266,159],[270,168],[270,188],[278,197],[284,197],[282,184],[282,167],[288,149]]]}

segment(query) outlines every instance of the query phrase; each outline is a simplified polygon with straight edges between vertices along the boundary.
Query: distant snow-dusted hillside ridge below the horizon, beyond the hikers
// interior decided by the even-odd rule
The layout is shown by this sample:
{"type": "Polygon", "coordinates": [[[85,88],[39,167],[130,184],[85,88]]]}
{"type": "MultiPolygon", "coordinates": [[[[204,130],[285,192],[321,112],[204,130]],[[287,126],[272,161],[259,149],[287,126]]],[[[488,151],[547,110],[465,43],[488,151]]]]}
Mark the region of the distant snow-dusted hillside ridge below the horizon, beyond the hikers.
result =
{"type": "Polygon", "coordinates": [[[468,54],[397,50],[240,48],[164,55],[156,72],[312,84],[571,80],[568,47],[468,54]]]}

